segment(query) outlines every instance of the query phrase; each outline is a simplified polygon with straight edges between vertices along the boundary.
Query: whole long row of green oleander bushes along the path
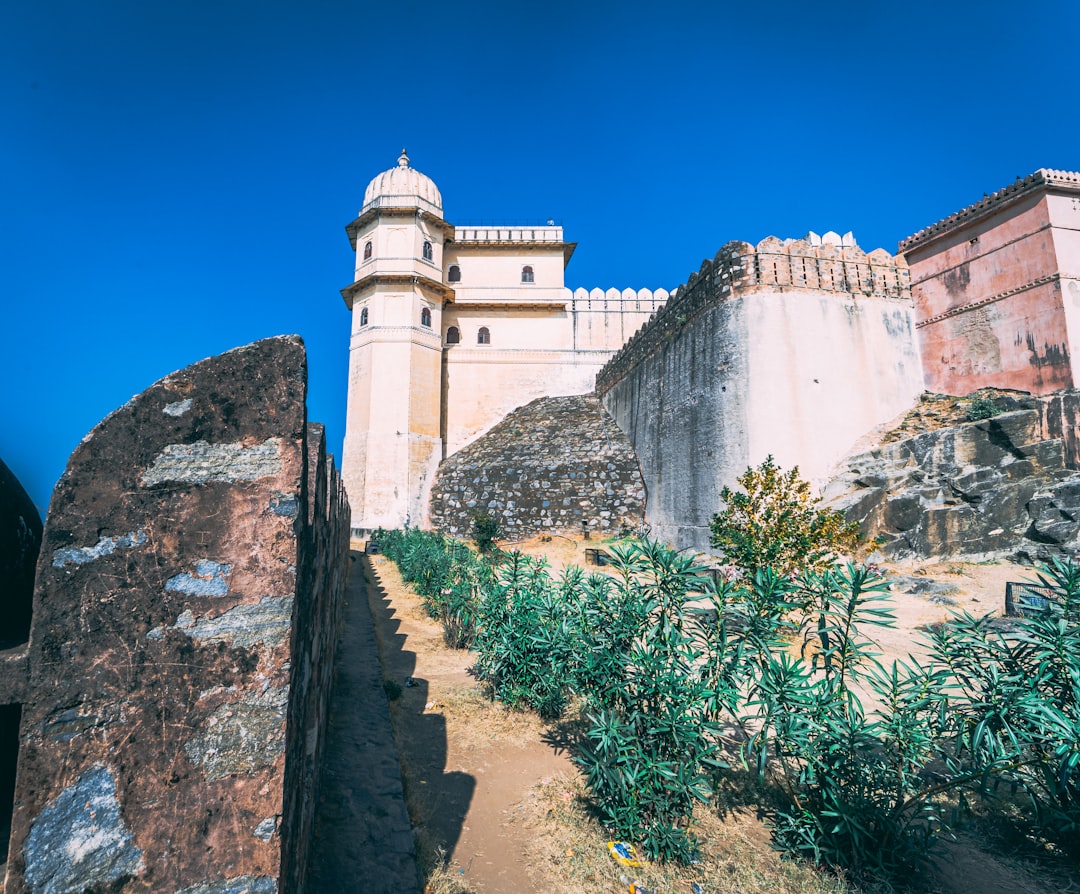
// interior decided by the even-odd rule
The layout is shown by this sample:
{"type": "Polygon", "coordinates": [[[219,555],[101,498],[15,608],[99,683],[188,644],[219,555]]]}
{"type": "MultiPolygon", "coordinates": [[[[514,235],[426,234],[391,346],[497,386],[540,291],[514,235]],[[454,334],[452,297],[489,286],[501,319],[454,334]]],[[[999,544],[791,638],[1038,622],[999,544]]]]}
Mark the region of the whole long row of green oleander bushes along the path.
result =
{"type": "Polygon", "coordinates": [[[720,579],[644,540],[612,547],[609,574],[556,579],[517,553],[384,537],[444,628],[470,631],[457,641],[494,697],[544,717],[578,700],[571,748],[595,807],[651,859],[693,858],[693,807],[734,764],[768,793],[778,848],[852,878],[903,878],[958,809],[994,809],[1002,790],[1061,846],[1080,841],[1071,563],[1041,569],[1045,612],[1009,626],[961,615],[930,634],[922,663],[886,665],[887,582],[815,550],[801,569],[750,563],[720,579]]]}

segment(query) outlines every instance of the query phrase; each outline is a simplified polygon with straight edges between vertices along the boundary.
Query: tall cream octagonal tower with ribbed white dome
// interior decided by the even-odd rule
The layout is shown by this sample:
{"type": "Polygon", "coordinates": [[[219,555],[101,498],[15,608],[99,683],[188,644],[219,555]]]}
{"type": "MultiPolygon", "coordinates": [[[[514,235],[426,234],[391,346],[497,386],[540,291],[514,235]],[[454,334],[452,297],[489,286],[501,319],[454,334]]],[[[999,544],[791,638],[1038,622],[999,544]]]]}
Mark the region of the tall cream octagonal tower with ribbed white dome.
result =
{"type": "Polygon", "coordinates": [[[349,405],[341,475],[352,527],[421,524],[443,453],[443,246],[454,228],[438,189],[409,166],[379,174],[347,228],[354,282],[341,290],[352,311],[349,405]]]}

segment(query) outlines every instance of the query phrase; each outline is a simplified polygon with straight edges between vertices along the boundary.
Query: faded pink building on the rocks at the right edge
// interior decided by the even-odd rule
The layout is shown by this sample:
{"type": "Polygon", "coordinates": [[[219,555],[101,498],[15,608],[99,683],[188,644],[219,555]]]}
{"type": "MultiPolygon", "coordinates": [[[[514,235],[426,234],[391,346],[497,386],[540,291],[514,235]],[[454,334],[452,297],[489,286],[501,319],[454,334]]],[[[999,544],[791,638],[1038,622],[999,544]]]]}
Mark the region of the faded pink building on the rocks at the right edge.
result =
{"type": "Polygon", "coordinates": [[[929,390],[1080,387],[1080,174],[1017,178],[900,252],[929,390]]]}

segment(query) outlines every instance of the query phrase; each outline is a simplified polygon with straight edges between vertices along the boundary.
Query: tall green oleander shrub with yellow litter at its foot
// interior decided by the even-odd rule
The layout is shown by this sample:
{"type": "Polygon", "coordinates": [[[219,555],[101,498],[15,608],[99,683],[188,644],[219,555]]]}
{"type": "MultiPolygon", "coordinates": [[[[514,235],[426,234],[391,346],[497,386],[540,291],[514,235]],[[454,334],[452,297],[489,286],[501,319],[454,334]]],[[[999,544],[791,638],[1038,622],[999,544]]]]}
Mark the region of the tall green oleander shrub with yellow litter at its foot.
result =
{"type": "Polygon", "coordinates": [[[589,730],[575,760],[616,835],[650,859],[686,862],[693,804],[710,800],[723,766],[699,645],[712,586],[658,543],[615,546],[611,557],[615,583],[581,594],[577,678],[589,730]]]}

